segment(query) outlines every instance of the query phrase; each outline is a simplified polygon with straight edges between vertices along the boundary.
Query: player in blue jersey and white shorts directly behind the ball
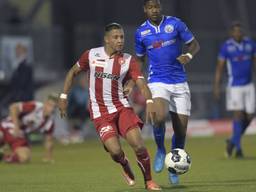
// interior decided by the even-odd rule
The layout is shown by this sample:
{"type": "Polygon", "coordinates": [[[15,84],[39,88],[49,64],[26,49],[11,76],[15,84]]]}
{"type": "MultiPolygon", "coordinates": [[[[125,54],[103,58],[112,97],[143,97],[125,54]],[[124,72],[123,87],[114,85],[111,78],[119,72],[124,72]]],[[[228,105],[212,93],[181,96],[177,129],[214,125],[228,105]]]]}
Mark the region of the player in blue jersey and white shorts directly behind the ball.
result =
{"type": "MultiPolygon", "coordinates": [[[[157,108],[153,128],[157,152],[155,172],[164,167],[165,121],[170,112],[174,135],[172,149],[184,148],[188,117],[190,115],[190,91],[184,65],[189,63],[200,47],[184,22],[161,13],[160,0],[144,0],[147,20],[135,34],[135,51],[141,62],[148,59],[148,83],[157,108]],[[187,52],[182,53],[183,45],[187,52]]],[[[177,175],[169,174],[173,184],[179,182],[177,175]]]]}

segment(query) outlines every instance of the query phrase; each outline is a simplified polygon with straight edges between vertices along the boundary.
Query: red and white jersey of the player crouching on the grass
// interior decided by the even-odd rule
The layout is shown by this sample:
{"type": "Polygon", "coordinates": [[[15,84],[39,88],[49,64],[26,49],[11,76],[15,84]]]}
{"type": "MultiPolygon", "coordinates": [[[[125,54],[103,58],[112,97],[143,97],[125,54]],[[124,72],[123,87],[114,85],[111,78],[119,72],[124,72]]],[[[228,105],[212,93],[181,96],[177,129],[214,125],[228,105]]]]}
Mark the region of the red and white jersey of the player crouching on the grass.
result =
{"type": "MultiPolygon", "coordinates": [[[[19,106],[19,120],[20,129],[25,133],[39,131],[41,133],[51,134],[54,129],[53,116],[44,117],[43,103],[36,101],[20,102],[19,106]]],[[[14,128],[11,117],[7,117],[1,121],[0,126],[4,129],[14,128]]]]}

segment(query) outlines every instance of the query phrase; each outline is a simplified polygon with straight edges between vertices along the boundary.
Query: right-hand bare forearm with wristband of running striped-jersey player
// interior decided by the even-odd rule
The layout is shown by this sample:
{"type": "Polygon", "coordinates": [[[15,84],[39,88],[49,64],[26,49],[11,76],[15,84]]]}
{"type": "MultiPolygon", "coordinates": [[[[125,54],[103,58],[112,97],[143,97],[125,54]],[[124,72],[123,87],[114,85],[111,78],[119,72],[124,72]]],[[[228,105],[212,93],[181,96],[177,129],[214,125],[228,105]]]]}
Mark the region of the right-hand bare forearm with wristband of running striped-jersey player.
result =
{"type": "Polygon", "coordinates": [[[140,89],[141,94],[146,99],[146,123],[151,123],[153,125],[155,122],[156,111],[151,91],[149,90],[149,87],[144,78],[138,78],[136,80],[136,85],[140,89]]]}

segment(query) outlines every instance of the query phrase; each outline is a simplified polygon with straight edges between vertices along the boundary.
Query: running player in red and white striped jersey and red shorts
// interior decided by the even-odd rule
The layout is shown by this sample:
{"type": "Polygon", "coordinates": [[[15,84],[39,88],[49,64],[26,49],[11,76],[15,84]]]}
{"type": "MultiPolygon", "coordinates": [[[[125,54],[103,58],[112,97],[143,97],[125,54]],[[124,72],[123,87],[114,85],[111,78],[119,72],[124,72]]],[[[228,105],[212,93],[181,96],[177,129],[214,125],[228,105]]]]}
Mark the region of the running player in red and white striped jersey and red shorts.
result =
{"type": "Polygon", "coordinates": [[[60,95],[61,115],[66,113],[67,95],[73,78],[81,71],[88,72],[90,118],[105,149],[112,159],[122,166],[123,176],[128,185],[134,185],[134,174],[119,141],[119,135],[122,136],[136,154],[146,189],[159,191],[161,188],[152,180],[150,157],[141,137],[140,129],[143,123],[131,108],[124,94],[123,85],[130,79],[136,82],[146,99],[146,119],[152,122],[155,111],[151,92],[136,59],[122,52],[124,31],[121,25],[117,23],[107,25],[104,42],[103,47],[85,51],[69,70],[63,93],[60,95]]]}

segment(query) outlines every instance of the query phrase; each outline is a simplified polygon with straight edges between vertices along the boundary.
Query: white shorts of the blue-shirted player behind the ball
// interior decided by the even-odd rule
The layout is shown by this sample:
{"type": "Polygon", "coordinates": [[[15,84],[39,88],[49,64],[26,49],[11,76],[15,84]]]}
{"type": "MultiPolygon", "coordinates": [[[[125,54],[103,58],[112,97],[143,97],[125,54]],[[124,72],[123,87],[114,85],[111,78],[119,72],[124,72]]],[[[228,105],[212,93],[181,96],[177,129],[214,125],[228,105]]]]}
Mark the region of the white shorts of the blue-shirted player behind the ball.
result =
{"type": "Polygon", "coordinates": [[[169,101],[169,110],[182,115],[190,115],[191,101],[187,82],[177,84],[148,84],[153,98],[163,98],[169,101]]]}

